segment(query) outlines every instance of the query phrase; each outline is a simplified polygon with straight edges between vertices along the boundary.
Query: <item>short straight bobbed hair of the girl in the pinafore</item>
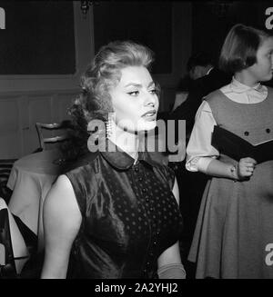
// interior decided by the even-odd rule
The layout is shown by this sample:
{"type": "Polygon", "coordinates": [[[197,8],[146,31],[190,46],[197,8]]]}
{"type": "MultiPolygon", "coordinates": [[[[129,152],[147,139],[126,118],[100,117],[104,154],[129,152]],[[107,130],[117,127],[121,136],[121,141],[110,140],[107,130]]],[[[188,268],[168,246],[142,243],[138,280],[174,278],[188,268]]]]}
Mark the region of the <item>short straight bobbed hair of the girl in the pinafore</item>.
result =
{"type": "Polygon", "coordinates": [[[258,47],[269,35],[247,25],[234,25],[227,34],[219,56],[219,68],[236,73],[257,62],[258,47]]]}

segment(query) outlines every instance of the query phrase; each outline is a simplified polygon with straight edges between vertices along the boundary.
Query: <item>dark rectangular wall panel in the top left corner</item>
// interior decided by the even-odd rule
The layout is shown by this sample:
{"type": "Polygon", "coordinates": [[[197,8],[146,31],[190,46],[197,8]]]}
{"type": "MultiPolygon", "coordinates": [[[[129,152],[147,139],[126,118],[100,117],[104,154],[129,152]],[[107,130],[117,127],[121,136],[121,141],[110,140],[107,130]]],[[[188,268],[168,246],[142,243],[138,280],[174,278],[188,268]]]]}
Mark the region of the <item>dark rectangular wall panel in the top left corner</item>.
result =
{"type": "Polygon", "coordinates": [[[0,1],[0,74],[75,74],[72,1],[0,1]]]}

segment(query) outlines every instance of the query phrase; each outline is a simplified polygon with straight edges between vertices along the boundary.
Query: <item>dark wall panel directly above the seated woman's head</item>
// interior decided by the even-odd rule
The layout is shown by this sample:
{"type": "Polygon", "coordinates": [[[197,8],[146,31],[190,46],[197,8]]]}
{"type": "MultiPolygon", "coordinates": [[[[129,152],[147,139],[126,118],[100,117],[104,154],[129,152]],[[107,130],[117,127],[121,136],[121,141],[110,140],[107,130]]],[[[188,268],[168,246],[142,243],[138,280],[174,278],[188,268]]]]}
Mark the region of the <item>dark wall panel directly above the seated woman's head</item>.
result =
{"type": "Polygon", "coordinates": [[[172,73],[171,2],[98,2],[94,4],[95,52],[114,40],[133,40],[155,51],[154,74],[172,73]]]}

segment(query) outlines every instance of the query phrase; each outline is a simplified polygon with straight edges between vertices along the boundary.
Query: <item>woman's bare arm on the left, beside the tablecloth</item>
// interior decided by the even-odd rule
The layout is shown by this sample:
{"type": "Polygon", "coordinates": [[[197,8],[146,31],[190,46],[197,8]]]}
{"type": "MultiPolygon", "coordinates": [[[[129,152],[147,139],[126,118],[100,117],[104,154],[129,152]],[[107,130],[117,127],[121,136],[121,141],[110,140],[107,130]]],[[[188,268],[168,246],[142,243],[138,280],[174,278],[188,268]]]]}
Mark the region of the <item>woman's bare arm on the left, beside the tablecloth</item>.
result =
{"type": "Polygon", "coordinates": [[[72,243],[82,222],[76,196],[66,175],[60,175],[44,203],[45,262],[41,278],[66,278],[72,243]]]}

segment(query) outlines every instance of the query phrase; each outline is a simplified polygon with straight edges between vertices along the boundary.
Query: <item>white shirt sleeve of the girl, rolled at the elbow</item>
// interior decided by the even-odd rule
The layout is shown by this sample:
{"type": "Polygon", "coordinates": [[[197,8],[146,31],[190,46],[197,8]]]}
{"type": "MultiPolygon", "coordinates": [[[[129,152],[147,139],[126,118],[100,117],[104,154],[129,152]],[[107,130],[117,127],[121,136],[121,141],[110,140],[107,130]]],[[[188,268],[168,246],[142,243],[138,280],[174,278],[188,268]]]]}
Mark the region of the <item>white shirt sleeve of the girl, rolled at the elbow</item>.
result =
{"type": "Polygon", "coordinates": [[[199,106],[195,125],[187,144],[188,171],[206,172],[208,164],[219,156],[219,152],[211,145],[211,135],[217,125],[207,101],[199,106]]]}

